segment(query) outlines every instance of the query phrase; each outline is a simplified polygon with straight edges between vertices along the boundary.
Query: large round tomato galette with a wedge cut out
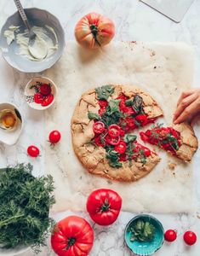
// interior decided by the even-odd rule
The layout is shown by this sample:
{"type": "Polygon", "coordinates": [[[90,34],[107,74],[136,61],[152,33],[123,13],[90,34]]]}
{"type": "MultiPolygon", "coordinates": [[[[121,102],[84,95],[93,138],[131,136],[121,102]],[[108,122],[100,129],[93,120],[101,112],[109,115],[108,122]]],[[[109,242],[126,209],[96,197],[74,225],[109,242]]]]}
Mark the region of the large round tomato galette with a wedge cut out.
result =
{"type": "Polygon", "coordinates": [[[131,182],[160,158],[133,134],[163,115],[157,102],[134,86],[105,85],[84,93],[71,119],[74,151],[90,172],[131,182]]]}

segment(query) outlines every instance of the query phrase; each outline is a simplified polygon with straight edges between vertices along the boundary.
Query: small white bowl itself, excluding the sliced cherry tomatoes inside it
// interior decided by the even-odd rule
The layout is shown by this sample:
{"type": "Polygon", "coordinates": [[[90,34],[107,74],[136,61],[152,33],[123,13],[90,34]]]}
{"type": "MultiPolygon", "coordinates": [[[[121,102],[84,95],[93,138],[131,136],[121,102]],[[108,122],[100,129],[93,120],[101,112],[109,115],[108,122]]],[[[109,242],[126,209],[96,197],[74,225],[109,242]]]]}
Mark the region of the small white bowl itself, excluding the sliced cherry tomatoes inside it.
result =
{"type": "Polygon", "coordinates": [[[26,84],[24,97],[29,107],[37,110],[44,110],[50,108],[54,104],[56,93],[57,87],[51,79],[45,77],[35,77],[26,84]],[[48,106],[43,107],[41,104],[34,101],[34,95],[37,93],[37,89],[39,88],[39,86],[36,88],[34,85],[37,85],[38,83],[49,84],[51,86],[51,93],[54,96],[54,100],[48,106]]]}

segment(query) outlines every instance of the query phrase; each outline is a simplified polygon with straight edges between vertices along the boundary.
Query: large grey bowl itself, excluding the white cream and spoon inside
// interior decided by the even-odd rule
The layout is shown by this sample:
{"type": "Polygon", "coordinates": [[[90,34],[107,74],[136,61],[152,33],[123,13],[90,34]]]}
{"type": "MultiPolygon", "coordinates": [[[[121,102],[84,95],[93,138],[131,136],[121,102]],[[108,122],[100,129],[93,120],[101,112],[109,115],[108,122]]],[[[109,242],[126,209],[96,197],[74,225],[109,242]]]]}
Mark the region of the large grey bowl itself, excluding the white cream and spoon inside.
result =
{"type": "MultiPolygon", "coordinates": [[[[2,27],[0,34],[0,48],[2,49],[3,58],[9,63],[10,66],[20,70],[24,73],[38,73],[43,70],[52,67],[56,61],[60,59],[63,49],[65,48],[65,32],[60,25],[60,21],[51,15],[48,11],[37,8],[25,9],[26,15],[31,26],[51,26],[54,28],[54,32],[58,38],[58,49],[53,55],[44,59],[43,61],[30,61],[24,56],[17,55],[15,52],[18,45],[13,41],[11,44],[7,44],[7,39],[3,36],[5,30],[9,29],[9,26],[20,26],[20,32],[24,32],[26,26],[20,18],[18,12],[11,15],[2,27]]],[[[50,36],[50,35],[49,35],[50,36]]],[[[53,37],[53,34],[51,35],[53,37]]],[[[54,38],[52,38],[54,41],[54,38]]]]}

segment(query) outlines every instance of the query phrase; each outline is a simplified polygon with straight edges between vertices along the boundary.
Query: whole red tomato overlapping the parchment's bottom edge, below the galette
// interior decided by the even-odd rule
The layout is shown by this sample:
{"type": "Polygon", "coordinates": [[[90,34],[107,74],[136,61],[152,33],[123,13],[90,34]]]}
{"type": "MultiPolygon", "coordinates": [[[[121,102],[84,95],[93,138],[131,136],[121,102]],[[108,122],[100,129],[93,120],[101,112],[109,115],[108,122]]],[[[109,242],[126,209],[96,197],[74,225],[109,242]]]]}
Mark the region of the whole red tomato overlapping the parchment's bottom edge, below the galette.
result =
{"type": "Polygon", "coordinates": [[[122,198],[111,189],[94,190],[87,201],[87,211],[95,223],[114,223],[122,207],[122,198]]]}

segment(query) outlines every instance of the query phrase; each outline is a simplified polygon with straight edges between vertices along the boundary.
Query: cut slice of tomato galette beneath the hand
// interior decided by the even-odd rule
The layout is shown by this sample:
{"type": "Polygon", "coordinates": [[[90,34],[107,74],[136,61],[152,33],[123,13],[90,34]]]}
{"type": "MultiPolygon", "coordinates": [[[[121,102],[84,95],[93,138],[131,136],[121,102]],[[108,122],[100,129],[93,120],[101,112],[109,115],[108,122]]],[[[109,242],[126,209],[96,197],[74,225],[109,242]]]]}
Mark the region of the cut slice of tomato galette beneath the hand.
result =
{"type": "Polygon", "coordinates": [[[197,137],[191,125],[186,123],[171,127],[156,125],[151,130],[140,132],[140,137],[186,162],[191,161],[198,147],[197,137]]]}

